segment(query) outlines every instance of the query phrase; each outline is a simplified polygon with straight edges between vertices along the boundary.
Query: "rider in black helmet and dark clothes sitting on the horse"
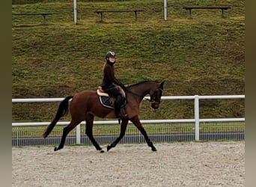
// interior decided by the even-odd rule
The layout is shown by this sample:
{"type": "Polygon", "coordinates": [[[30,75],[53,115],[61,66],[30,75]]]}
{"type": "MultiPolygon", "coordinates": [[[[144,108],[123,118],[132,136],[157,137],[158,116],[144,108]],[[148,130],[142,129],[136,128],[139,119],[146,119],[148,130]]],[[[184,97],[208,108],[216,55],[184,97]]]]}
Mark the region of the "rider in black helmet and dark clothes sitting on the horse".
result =
{"type": "Polygon", "coordinates": [[[115,52],[107,52],[106,53],[106,63],[103,67],[103,91],[109,94],[109,96],[115,97],[115,114],[118,119],[122,117],[121,115],[121,102],[122,96],[116,85],[119,85],[126,91],[124,84],[122,84],[118,79],[115,78],[115,64],[116,55],[115,52]]]}

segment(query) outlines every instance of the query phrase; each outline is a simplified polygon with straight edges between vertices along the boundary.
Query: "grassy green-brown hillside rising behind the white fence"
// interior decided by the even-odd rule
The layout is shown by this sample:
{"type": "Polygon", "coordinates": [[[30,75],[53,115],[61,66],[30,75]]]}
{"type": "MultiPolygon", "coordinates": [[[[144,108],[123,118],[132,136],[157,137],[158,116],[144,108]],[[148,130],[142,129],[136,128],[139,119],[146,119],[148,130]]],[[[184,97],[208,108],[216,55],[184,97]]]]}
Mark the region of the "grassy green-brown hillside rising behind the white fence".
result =
{"type": "MultiPolygon", "coordinates": [[[[116,76],[125,85],[165,80],[165,96],[245,94],[245,1],[168,0],[163,20],[162,0],[78,1],[78,24],[73,1],[13,1],[12,13],[55,13],[13,16],[12,98],[64,97],[95,90],[101,84],[107,51],[118,55],[116,76]],[[20,4],[17,4],[17,3],[20,4]],[[228,5],[220,10],[183,6],[228,5]],[[141,9],[109,13],[104,22],[95,10],[141,9]]],[[[58,103],[13,104],[14,121],[49,121],[58,103]],[[40,109],[38,109],[40,108],[40,109]]],[[[244,117],[243,99],[201,102],[201,117],[244,117]]],[[[141,118],[192,118],[192,101],[163,101],[153,112],[144,102],[141,118]]]]}

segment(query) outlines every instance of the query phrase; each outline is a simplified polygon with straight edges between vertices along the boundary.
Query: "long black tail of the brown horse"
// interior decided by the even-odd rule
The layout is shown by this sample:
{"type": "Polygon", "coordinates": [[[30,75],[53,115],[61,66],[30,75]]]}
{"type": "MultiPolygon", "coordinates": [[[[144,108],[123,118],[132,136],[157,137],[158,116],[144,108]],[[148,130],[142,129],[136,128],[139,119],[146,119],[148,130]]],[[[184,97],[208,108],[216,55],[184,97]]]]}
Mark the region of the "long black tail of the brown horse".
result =
{"type": "Polygon", "coordinates": [[[54,119],[52,120],[52,123],[49,124],[46,131],[43,133],[43,138],[46,138],[50,132],[52,132],[52,129],[58,122],[58,120],[61,119],[65,114],[67,114],[68,111],[68,102],[69,100],[73,98],[73,96],[67,96],[63,101],[61,101],[60,105],[58,106],[58,111],[55,114],[54,119]]]}

